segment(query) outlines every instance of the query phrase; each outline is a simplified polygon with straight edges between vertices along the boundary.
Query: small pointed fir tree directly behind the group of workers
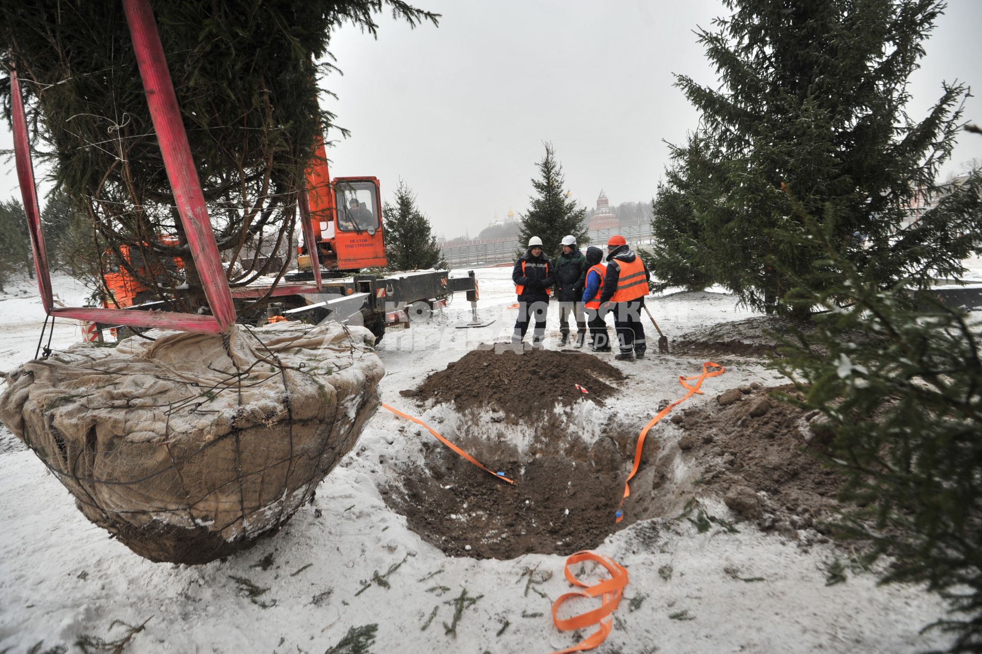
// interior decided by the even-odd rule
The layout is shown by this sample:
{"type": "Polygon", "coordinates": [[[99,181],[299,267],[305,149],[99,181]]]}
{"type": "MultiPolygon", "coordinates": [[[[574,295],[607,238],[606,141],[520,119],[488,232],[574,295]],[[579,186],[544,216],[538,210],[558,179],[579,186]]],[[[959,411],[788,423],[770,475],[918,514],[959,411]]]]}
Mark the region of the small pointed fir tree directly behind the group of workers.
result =
{"type": "Polygon", "coordinates": [[[545,156],[536,164],[540,177],[532,180],[537,194],[528,196],[528,211],[518,216],[518,243],[524,253],[528,240],[537,236],[542,239],[543,253],[552,258],[561,251],[560,242],[568,234],[576,238],[577,244],[586,244],[586,209],[577,208],[576,201],[563,190],[563,166],[556,160],[552,143],[543,145],[545,156]]]}

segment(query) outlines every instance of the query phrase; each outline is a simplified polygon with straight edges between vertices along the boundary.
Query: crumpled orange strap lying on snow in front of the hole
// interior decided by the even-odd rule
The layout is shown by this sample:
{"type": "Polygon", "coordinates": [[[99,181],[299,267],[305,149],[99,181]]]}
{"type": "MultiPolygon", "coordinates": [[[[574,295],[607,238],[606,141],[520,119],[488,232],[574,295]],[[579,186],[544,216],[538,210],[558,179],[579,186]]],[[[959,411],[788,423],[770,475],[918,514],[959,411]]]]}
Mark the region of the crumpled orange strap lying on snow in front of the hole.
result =
{"type": "Polygon", "coordinates": [[[601,554],[595,554],[593,552],[581,551],[571,555],[570,558],[566,560],[565,572],[566,578],[570,583],[581,588],[585,588],[586,590],[576,590],[572,593],[560,595],[559,598],[553,602],[553,623],[556,625],[556,628],[564,631],[581,629],[592,625],[599,625],[599,628],[580,642],[573,645],[573,647],[567,647],[566,649],[561,649],[553,652],[552,654],[584,652],[588,649],[593,649],[594,647],[599,646],[604,640],[606,640],[607,636],[611,632],[611,627],[613,627],[614,624],[612,614],[614,613],[615,609],[617,609],[618,604],[621,602],[621,596],[624,594],[624,587],[627,585],[627,570],[623,566],[609,557],[605,557],[601,554]],[[607,570],[607,572],[610,572],[610,578],[603,579],[592,586],[588,586],[587,584],[583,583],[577,579],[570,570],[571,566],[583,561],[593,561],[600,564],[607,570]],[[601,604],[596,609],[581,613],[577,616],[573,616],[572,618],[566,618],[564,620],[560,620],[557,617],[559,607],[567,600],[571,600],[573,597],[593,598],[597,596],[600,597],[601,604]]]}

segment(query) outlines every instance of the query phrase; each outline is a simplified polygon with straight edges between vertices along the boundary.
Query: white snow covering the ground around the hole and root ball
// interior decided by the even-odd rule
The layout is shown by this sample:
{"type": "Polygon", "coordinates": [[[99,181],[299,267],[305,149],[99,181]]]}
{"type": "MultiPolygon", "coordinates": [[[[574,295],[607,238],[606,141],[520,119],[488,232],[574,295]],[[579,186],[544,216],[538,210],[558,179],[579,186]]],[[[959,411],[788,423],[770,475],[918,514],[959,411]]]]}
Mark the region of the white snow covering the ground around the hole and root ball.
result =
{"type": "MultiPolygon", "coordinates": [[[[982,265],[972,263],[982,273],[982,265]]],[[[488,327],[454,328],[469,319],[462,296],[428,324],[389,332],[379,347],[387,370],[383,402],[417,412],[399,391],[478,343],[505,340],[515,319],[508,308],[515,301],[510,275],[510,268],[477,271],[481,317],[495,319],[488,327]]],[[[69,280],[57,280],[56,287],[67,303],[86,295],[69,280]]],[[[750,315],[725,293],[673,295],[649,306],[670,339],[750,315]]],[[[554,345],[558,317],[550,313],[548,345],[554,345]]],[[[43,318],[36,293],[0,296],[0,369],[33,356],[43,318]]],[[[78,327],[60,322],[52,345],[79,338],[78,327]]],[[[636,390],[606,408],[640,428],[660,400],[682,396],[678,376],[697,374],[702,360],[654,354],[615,364],[636,390]]],[[[737,364],[708,380],[706,395],[688,406],[750,381],[777,383],[762,365],[737,364]]],[[[447,410],[419,417],[438,426],[447,410]]],[[[677,437],[672,429],[659,425],[651,438],[677,437]]],[[[109,539],[0,427],[0,652],[56,645],[75,651],[82,636],[126,637],[129,628],[120,623],[145,623],[128,645],[134,652],[324,652],[366,625],[377,625],[372,652],[545,654],[573,645],[578,639],[557,630],[550,614],[552,601],[570,590],[563,557],[450,558],[386,507],[380,486],[430,438],[380,411],[320,485],[314,503],[281,532],[226,561],[187,567],[149,563],[109,539]],[[530,574],[542,582],[528,584],[530,574]]],[[[474,468],[474,474],[485,473],[474,468]]],[[[488,483],[496,482],[489,477],[488,483]]],[[[707,506],[720,518],[735,518],[720,502],[707,500],[707,506]]],[[[461,534],[470,537],[477,535],[461,534]]],[[[919,633],[944,615],[944,605],[922,587],[880,587],[874,574],[851,571],[845,583],[826,585],[830,564],[843,557],[831,545],[803,551],[750,526],[699,533],[686,520],[661,518],[630,525],[596,551],[629,572],[614,630],[596,650],[601,653],[894,653],[946,644],[940,634],[919,633]]]]}

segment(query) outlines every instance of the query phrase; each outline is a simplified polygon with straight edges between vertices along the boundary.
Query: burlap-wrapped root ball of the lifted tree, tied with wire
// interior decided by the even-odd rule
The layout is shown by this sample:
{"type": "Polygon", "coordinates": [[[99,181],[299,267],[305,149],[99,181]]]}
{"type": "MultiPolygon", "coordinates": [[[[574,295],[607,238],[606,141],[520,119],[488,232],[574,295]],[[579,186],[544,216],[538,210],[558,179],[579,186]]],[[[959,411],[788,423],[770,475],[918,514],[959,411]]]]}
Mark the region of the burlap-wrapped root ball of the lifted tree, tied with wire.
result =
{"type": "Polygon", "coordinates": [[[279,528],[352,449],[379,405],[371,342],[280,323],[80,344],[12,372],[0,420],[134,552],[205,563],[279,528]]]}

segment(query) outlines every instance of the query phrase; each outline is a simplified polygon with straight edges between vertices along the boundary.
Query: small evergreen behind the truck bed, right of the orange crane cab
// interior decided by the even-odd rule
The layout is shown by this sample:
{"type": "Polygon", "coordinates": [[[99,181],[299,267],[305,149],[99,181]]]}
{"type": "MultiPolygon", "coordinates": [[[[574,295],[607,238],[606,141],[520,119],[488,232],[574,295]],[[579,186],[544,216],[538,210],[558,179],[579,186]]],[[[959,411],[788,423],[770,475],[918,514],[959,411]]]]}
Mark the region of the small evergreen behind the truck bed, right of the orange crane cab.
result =
{"type": "Polygon", "coordinates": [[[416,206],[416,194],[400,180],[395,203],[382,206],[385,254],[390,270],[446,268],[429,219],[416,206]]]}

